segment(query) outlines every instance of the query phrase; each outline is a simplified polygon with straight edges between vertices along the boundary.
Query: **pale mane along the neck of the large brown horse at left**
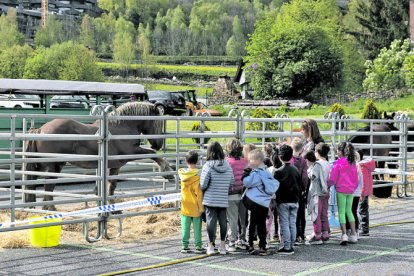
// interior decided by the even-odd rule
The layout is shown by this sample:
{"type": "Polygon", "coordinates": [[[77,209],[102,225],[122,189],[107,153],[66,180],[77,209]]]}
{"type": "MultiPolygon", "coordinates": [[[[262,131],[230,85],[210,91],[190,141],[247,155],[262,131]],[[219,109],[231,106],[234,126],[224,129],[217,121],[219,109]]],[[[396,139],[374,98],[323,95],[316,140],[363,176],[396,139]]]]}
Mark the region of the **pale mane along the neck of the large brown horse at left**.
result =
{"type": "MultiPolygon", "coordinates": [[[[159,116],[158,109],[155,105],[147,102],[128,102],[124,103],[111,113],[109,116],[159,116]]],[[[119,125],[121,120],[109,120],[111,124],[119,125]]]]}

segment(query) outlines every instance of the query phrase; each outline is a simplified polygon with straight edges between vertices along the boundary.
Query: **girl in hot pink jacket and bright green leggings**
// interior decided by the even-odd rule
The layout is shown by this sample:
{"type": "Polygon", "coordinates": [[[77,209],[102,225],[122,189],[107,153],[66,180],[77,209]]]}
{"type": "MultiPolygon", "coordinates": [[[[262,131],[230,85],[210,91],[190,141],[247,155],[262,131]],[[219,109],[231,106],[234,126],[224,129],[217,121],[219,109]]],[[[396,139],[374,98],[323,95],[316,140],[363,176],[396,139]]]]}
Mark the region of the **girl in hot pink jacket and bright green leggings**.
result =
{"type": "Polygon", "coordinates": [[[335,186],[339,223],[341,225],[341,245],[356,243],[358,241],[355,232],[355,218],[352,214],[352,202],[354,192],[358,187],[358,172],[355,162],[355,148],[349,142],[342,142],[337,149],[338,160],[332,166],[329,183],[335,186]],[[346,234],[346,219],[348,218],[351,235],[346,234]]]}

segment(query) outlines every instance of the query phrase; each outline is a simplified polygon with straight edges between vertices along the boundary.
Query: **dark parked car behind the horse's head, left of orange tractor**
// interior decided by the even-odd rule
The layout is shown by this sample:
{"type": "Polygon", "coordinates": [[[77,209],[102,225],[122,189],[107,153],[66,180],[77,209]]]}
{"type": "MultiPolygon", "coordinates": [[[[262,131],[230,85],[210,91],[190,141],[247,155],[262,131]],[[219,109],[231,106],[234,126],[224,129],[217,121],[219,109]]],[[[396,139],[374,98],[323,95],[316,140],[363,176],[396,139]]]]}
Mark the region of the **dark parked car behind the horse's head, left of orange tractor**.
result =
{"type": "Polygon", "coordinates": [[[162,90],[148,91],[148,101],[155,104],[160,114],[185,114],[185,99],[181,93],[162,90]]]}

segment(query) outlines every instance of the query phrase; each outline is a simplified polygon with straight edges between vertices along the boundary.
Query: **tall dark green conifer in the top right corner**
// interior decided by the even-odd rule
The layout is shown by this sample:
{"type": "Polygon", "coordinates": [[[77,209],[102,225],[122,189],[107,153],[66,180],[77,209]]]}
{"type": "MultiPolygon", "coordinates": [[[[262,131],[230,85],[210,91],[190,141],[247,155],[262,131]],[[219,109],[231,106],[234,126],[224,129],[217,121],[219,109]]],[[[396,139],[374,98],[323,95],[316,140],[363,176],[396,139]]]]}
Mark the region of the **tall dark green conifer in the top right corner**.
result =
{"type": "Polygon", "coordinates": [[[345,23],[373,59],[392,41],[409,37],[408,8],[409,0],[354,0],[345,23]]]}

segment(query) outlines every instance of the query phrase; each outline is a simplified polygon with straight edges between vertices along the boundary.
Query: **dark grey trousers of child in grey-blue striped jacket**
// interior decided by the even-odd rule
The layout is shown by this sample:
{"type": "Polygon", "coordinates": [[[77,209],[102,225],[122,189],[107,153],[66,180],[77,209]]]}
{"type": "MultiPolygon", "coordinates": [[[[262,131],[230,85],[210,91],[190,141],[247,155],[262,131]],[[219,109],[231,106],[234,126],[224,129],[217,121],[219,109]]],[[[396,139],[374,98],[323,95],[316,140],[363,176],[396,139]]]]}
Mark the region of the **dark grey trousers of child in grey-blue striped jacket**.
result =
{"type": "Polygon", "coordinates": [[[206,210],[207,235],[212,243],[216,240],[217,221],[220,225],[220,240],[226,240],[227,234],[227,208],[204,206],[206,210]]]}

